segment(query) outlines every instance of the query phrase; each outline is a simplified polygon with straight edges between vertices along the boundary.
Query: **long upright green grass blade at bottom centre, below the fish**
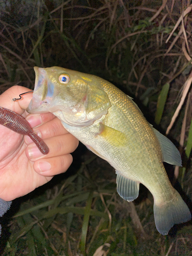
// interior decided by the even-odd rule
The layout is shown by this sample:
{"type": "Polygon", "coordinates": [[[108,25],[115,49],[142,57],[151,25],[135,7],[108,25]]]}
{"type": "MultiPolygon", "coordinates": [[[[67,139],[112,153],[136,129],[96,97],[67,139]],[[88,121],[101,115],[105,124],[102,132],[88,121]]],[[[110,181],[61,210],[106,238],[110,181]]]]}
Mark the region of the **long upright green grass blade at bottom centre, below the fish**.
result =
{"type": "Polygon", "coordinates": [[[84,210],[84,219],[83,219],[82,231],[81,231],[80,249],[83,255],[85,255],[86,253],[86,240],[87,240],[87,233],[88,233],[88,226],[89,226],[89,218],[91,214],[92,200],[93,200],[93,192],[90,192],[87,205],[84,210]]]}

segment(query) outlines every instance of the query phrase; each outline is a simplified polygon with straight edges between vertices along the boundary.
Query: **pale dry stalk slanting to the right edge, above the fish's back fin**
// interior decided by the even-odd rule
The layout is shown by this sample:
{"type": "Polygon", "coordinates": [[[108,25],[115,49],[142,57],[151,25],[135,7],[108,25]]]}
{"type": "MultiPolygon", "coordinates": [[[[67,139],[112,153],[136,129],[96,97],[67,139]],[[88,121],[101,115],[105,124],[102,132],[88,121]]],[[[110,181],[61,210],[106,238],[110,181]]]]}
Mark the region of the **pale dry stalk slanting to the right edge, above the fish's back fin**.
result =
{"type": "Polygon", "coordinates": [[[180,103],[179,103],[179,105],[178,105],[178,107],[177,107],[177,109],[176,109],[176,111],[175,111],[175,113],[174,113],[174,115],[173,115],[173,117],[172,117],[172,120],[170,121],[170,124],[169,124],[168,127],[167,127],[166,135],[169,133],[170,129],[172,129],[172,126],[173,126],[173,124],[174,124],[174,122],[175,122],[175,120],[176,120],[176,118],[177,118],[177,116],[178,116],[178,114],[179,114],[179,112],[180,112],[180,110],[181,110],[181,107],[182,107],[182,105],[183,105],[183,102],[184,102],[184,100],[185,100],[185,98],[186,98],[186,95],[187,95],[187,93],[188,93],[188,90],[189,90],[189,88],[190,88],[191,82],[192,82],[192,71],[190,72],[190,75],[189,75],[188,79],[186,80],[186,82],[185,82],[185,84],[184,84],[184,87],[185,87],[185,88],[184,88],[184,90],[183,90],[183,95],[182,95],[182,97],[181,97],[181,101],[180,101],[180,103]]]}

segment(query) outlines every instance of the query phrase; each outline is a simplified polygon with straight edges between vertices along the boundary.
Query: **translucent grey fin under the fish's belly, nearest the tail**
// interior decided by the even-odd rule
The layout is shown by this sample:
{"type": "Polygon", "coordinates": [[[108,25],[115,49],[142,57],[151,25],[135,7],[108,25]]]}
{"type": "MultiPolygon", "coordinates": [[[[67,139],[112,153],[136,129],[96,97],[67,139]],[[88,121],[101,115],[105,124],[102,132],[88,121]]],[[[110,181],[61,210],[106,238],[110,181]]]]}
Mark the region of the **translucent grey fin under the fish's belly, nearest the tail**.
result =
{"type": "Polygon", "coordinates": [[[117,170],[117,192],[126,201],[133,201],[139,195],[139,182],[128,179],[121,175],[117,170]]]}

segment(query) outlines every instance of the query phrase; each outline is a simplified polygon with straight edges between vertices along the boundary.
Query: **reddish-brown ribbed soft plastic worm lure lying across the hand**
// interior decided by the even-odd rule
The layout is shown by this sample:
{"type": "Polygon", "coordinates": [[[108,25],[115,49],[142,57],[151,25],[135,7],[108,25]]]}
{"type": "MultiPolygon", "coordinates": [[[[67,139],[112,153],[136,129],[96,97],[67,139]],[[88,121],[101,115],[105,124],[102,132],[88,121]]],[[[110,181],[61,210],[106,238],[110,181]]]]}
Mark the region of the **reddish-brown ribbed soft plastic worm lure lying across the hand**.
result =
{"type": "Polygon", "coordinates": [[[47,155],[49,153],[49,147],[38,135],[33,132],[30,124],[23,116],[11,110],[0,107],[0,124],[6,126],[16,133],[28,135],[37,145],[42,154],[47,155]]]}

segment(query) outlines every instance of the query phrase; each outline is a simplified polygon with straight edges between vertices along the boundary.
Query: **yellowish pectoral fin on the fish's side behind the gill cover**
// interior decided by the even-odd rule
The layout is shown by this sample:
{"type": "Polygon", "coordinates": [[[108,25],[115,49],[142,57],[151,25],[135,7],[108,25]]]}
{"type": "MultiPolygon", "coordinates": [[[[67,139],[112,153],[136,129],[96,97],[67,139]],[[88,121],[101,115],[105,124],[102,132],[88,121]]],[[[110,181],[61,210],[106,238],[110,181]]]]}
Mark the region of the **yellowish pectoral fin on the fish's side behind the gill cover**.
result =
{"type": "Polygon", "coordinates": [[[96,136],[103,137],[111,146],[123,147],[127,145],[128,140],[125,134],[100,123],[100,131],[96,136]]]}

